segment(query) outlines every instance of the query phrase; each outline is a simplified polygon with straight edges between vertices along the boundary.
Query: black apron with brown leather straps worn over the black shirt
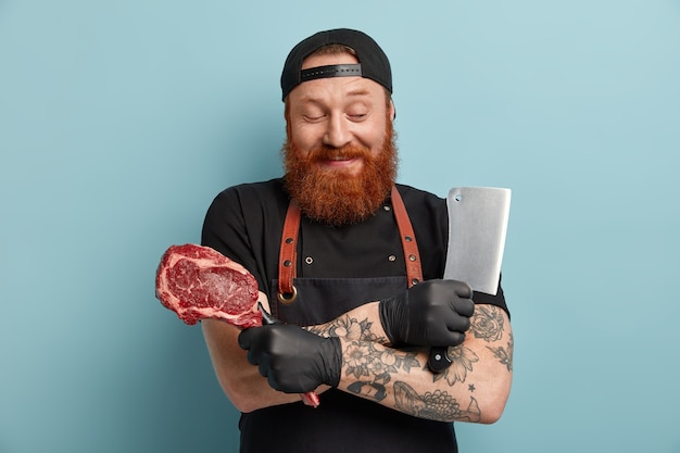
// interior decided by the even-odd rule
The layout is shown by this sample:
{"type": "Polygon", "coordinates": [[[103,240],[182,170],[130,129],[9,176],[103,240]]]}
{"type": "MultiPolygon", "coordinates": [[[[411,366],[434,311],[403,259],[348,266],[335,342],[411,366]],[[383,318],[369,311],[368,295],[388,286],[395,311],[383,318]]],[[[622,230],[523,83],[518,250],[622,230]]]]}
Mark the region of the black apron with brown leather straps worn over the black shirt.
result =
{"type": "MultiPolygon", "coordinates": [[[[300,211],[291,202],[284,224],[278,279],[269,294],[273,313],[300,326],[327,323],[367,302],[403,291],[423,280],[416,238],[401,196],[392,190],[406,277],[297,278],[300,211]]],[[[453,425],[401,414],[375,402],[331,389],[320,406],[285,404],[242,414],[241,452],[457,452],[453,425]],[[266,427],[266,429],[263,429],[266,427]]]]}

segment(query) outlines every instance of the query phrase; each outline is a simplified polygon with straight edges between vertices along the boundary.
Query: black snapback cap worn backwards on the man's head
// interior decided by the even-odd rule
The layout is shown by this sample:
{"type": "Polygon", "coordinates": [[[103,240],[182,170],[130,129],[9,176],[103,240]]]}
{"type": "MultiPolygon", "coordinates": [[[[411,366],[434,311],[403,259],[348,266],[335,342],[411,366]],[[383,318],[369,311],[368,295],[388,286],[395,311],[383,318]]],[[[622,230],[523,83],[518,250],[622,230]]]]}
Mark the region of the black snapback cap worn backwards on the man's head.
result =
{"type": "Polygon", "coordinates": [[[281,99],[286,100],[288,93],[303,81],[348,76],[369,78],[392,93],[390,62],[380,46],[370,36],[349,28],[319,32],[300,41],[288,54],[281,73],[281,99]],[[317,49],[329,45],[342,45],[354,50],[358,64],[338,64],[302,71],[304,59],[317,49]]]}

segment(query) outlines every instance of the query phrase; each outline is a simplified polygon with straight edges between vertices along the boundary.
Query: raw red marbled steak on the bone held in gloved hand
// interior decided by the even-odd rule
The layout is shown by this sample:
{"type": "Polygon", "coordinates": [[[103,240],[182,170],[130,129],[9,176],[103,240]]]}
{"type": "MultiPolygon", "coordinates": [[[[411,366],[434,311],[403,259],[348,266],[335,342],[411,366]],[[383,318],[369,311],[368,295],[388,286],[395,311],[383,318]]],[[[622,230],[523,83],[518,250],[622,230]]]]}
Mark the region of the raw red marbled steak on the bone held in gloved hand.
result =
{"type": "MultiPolygon", "coordinates": [[[[213,318],[240,328],[262,326],[255,277],[209,247],[171,246],[156,270],[155,295],[189,325],[213,318]]],[[[315,392],[301,397],[306,405],[319,404],[315,392]]]]}

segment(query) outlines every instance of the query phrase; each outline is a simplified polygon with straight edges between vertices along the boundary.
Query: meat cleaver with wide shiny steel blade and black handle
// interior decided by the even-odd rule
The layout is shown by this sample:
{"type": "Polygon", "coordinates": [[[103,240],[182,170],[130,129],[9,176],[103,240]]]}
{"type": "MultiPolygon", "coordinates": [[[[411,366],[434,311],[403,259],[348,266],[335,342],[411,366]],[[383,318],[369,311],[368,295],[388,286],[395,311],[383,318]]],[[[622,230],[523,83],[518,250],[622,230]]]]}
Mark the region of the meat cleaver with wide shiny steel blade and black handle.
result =
{"type": "MultiPolygon", "coordinates": [[[[511,189],[454,187],[446,194],[449,248],[444,278],[467,282],[475,292],[494,294],[499,288],[511,189]]],[[[430,350],[428,366],[441,373],[451,365],[446,347],[430,350]]]]}

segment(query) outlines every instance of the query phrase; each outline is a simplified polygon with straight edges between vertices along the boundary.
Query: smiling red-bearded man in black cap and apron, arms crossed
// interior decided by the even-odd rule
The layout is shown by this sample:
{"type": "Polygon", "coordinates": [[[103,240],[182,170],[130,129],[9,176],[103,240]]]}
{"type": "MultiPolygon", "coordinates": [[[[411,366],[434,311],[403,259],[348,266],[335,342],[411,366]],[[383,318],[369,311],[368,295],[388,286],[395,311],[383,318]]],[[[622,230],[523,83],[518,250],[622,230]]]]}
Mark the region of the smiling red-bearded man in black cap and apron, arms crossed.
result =
{"type": "Polygon", "coordinates": [[[218,194],[202,236],[255,276],[282,322],[203,322],[242,412],[241,451],[455,452],[452,423],[494,423],[509,393],[503,291],[441,280],[446,205],[394,183],[392,77],[370,37],[304,39],[281,89],[286,175],[218,194]],[[449,347],[443,373],[428,368],[430,347],[449,347]],[[313,390],[317,408],[300,398],[313,390]]]}

